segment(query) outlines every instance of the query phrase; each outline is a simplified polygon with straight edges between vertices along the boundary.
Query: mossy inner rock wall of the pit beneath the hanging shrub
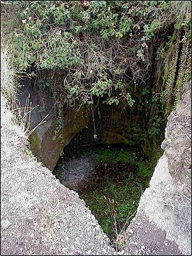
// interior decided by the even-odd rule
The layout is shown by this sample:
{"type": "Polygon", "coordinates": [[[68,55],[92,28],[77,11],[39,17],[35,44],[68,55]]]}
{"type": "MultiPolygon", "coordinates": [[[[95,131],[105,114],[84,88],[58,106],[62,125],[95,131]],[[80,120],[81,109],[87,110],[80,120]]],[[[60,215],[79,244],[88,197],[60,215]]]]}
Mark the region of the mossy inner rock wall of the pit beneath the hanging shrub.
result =
{"type": "Polygon", "coordinates": [[[97,105],[94,112],[87,107],[82,107],[80,111],[66,108],[63,112],[61,130],[55,135],[58,106],[54,104],[51,92],[40,90],[29,81],[24,81],[23,84],[25,84],[25,87],[18,96],[18,100],[22,105],[25,105],[25,100],[30,93],[32,107],[39,105],[31,112],[30,129],[37,126],[49,114],[46,123],[38,126],[30,136],[32,151],[49,170],[53,171],[63,148],[70,143],[75,135],[77,135],[75,143],[81,145],[102,143],[134,145],[134,139],[132,139],[134,128],[131,132],[130,128],[134,124],[141,125],[142,119],[139,111],[129,112],[129,110],[124,111],[122,105],[110,106],[103,104],[100,104],[99,107],[97,105]],[[27,86],[27,84],[29,85],[27,86]],[[94,139],[94,133],[97,135],[96,139],[94,139]],[[53,139],[53,137],[55,138],[53,139]]]}

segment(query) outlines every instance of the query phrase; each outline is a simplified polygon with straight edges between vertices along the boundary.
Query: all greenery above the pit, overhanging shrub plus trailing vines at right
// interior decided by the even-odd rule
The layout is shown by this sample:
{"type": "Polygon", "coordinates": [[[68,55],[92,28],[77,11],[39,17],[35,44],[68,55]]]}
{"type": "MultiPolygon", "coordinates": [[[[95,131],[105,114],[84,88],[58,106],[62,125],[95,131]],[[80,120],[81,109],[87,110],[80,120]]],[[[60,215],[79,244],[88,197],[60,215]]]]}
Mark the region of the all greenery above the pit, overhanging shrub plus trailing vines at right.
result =
{"type": "Polygon", "coordinates": [[[124,104],[151,137],[190,79],[190,1],[3,1],[13,65],[58,108],[124,104]],[[8,21],[8,23],[7,23],[8,21]],[[165,110],[160,111],[160,102],[165,110]]]}

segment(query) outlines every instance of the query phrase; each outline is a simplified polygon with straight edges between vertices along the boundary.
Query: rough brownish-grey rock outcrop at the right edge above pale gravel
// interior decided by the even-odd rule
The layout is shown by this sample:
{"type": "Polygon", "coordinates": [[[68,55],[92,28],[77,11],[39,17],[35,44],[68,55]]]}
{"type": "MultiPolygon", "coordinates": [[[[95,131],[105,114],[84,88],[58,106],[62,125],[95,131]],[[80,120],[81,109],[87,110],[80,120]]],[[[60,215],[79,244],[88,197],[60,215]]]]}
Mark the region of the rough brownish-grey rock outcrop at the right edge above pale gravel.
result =
{"type": "Polygon", "coordinates": [[[177,110],[168,118],[162,149],[172,179],[191,198],[191,84],[186,87],[177,110]]]}

